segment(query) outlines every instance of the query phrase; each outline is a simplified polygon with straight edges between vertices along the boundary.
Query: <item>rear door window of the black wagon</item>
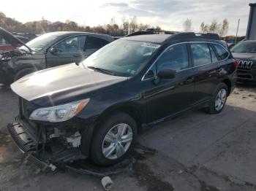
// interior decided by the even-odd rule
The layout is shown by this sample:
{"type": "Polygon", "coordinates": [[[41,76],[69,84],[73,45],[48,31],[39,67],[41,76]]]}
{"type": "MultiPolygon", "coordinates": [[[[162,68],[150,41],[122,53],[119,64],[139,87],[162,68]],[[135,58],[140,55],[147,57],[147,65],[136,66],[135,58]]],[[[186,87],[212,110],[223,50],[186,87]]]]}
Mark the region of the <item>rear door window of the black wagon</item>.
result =
{"type": "Polygon", "coordinates": [[[192,43],[190,44],[192,50],[192,58],[194,66],[201,66],[211,63],[211,54],[206,43],[192,43]]]}

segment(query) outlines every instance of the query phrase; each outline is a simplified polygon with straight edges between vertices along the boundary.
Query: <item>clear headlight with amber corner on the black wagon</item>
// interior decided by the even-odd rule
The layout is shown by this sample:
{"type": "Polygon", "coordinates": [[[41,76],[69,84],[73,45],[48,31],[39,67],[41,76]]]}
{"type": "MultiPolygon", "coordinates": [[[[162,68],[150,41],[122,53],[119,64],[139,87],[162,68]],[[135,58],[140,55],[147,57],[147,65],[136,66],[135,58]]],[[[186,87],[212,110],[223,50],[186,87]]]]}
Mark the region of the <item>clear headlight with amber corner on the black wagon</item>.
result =
{"type": "Polygon", "coordinates": [[[89,100],[88,98],[60,106],[36,109],[31,113],[29,119],[48,122],[67,121],[78,114],[89,103],[89,100]]]}

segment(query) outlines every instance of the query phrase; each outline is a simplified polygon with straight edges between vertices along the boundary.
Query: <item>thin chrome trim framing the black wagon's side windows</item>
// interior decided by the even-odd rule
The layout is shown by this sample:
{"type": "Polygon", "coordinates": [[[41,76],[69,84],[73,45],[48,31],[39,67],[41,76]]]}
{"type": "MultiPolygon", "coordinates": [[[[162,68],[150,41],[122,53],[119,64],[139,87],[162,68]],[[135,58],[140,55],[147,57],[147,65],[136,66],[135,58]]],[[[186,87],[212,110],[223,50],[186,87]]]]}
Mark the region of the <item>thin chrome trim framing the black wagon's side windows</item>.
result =
{"type": "MultiPolygon", "coordinates": [[[[162,51],[162,53],[157,57],[157,59],[154,61],[154,63],[152,63],[151,66],[148,68],[148,70],[145,72],[145,74],[141,78],[141,81],[147,81],[147,80],[150,80],[150,79],[155,79],[156,77],[150,77],[150,78],[147,78],[147,79],[144,79],[144,78],[146,77],[146,74],[148,73],[148,71],[150,71],[150,69],[154,66],[154,64],[158,61],[158,59],[163,55],[163,53],[165,53],[167,51],[167,49],[169,49],[170,47],[173,47],[175,45],[185,44],[185,43],[187,43],[187,44],[192,44],[192,43],[208,43],[208,44],[218,44],[219,46],[222,46],[228,52],[228,55],[227,55],[227,57],[225,59],[219,60],[217,63],[219,63],[220,61],[225,61],[225,60],[227,60],[227,58],[230,57],[230,52],[227,50],[227,48],[225,48],[222,44],[219,44],[217,42],[205,42],[205,41],[201,41],[201,42],[196,42],[196,41],[195,42],[178,42],[176,44],[171,44],[169,47],[166,47],[164,51],[162,51]]],[[[206,63],[206,64],[203,64],[203,65],[200,65],[200,66],[206,66],[206,65],[209,65],[209,64],[212,64],[212,63],[206,63]]],[[[187,69],[195,69],[195,68],[200,67],[200,66],[192,66],[192,67],[187,68],[187,69]]],[[[187,70],[187,69],[181,69],[181,70],[178,70],[176,72],[184,71],[184,70],[187,70]]]]}

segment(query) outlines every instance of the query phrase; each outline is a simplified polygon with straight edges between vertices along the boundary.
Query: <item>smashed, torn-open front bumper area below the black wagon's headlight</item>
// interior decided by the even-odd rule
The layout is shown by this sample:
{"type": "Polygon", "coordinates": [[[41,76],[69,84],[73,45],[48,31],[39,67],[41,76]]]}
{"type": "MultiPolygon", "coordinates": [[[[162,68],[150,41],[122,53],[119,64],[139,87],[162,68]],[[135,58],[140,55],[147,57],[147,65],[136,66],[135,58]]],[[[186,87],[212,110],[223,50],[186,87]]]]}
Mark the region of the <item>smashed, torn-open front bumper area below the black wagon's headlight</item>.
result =
{"type": "Polygon", "coordinates": [[[42,171],[45,169],[55,170],[55,165],[69,163],[74,160],[85,159],[86,156],[80,152],[78,139],[69,136],[66,141],[64,136],[58,133],[51,134],[48,139],[48,130],[40,127],[33,130],[30,125],[22,120],[7,125],[7,129],[15,144],[26,153],[26,160],[34,163],[42,171]]]}

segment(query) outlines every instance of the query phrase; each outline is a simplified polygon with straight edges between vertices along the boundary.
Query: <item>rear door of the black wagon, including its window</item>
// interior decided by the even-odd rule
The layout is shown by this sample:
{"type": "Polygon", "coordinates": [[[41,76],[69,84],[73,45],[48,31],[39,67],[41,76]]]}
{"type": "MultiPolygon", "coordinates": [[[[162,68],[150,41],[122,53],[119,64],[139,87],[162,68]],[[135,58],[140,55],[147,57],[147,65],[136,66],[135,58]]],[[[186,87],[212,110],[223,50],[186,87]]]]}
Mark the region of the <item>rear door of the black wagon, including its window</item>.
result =
{"type": "Polygon", "coordinates": [[[219,60],[207,42],[190,43],[192,65],[195,71],[195,91],[192,103],[203,104],[212,97],[219,84],[219,60]]]}

